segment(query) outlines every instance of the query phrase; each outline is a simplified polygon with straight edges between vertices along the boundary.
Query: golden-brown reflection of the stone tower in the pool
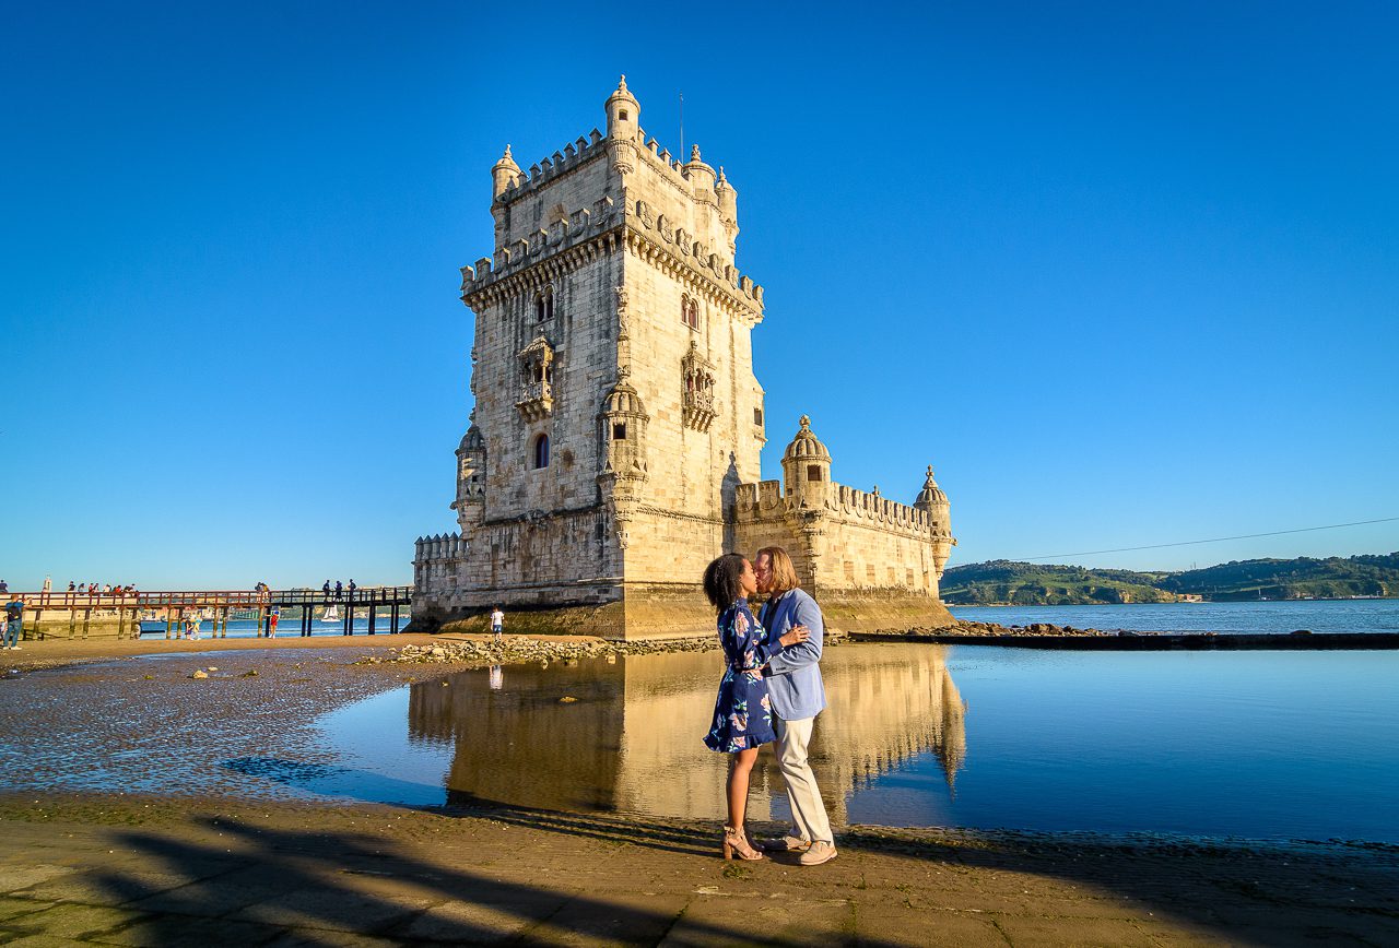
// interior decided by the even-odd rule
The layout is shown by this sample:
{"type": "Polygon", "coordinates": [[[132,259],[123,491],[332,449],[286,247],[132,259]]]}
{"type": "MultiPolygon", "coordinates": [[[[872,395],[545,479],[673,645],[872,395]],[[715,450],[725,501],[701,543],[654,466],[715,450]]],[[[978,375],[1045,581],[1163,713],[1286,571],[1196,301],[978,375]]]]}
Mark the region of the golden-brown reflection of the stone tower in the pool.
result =
{"type": "MultiPolygon", "coordinates": [[[[409,733],[452,747],[448,803],[719,818],[727,761],[700,738],[720,667],[708,652],[464,671],[446,687],[413,685],[409,733]]],[[[918,755],[936,755],[953,787],[967,755],[965,705],[946,649],[839,646],[821,671],[828,708],[811,765],[832,819],[845,822],[853,791],[918,755]]],[[[783,810],[768,747],[748,812],[769,819],[783,810]]]]}

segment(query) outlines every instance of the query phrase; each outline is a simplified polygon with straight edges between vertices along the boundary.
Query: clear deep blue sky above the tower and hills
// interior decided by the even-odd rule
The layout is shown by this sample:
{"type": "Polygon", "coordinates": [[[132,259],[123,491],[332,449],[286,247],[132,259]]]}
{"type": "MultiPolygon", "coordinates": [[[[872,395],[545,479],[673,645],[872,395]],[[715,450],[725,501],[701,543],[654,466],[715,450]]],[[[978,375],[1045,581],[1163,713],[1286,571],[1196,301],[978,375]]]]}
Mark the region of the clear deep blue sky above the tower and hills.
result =
{"type": "MultiPolygon", "coordinates": [[[[954,563],[1399,516],[1388,3],[11,4],[0,576],[410,577],[455,526],[491,164],[723,164],[767,477],[954,563]]],[[[1399,550],[1399,523],[1063,562],[1399,550]]]]}

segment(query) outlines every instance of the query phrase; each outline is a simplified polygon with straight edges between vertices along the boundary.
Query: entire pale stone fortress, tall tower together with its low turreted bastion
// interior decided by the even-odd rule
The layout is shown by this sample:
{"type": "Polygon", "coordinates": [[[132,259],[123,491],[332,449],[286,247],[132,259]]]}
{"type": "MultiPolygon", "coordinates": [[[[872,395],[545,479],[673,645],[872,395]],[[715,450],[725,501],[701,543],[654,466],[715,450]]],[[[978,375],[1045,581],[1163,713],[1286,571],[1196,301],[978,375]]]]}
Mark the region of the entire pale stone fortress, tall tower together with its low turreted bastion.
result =
{"type": "Polygon", "coordinates": [[[462,268],[459,533],[418,540],[416,626],[501,604],[520,631],[701,635],[705,565],[768,544],[839,628],[950,622],[930,468],[914,506],[835,484],[803,415],[783,480],[758,482],[762,288],[734,267],[737,192],[698,145],[680,161],[646,137],[625,78],[604,113],[606,134],[491,168],[495,249],[462,268]]]}

